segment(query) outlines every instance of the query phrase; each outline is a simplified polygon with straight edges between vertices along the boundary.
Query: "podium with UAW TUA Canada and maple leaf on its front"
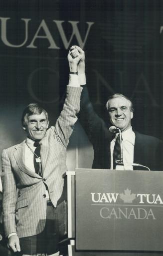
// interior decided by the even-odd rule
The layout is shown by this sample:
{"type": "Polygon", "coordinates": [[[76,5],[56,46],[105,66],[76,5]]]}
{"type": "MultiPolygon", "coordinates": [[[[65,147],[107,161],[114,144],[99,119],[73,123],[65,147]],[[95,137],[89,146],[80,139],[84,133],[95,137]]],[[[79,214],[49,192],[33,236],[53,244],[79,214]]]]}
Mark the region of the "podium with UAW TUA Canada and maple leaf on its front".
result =
{"type": "Polygon", "coordinates": [[[67,172],[69,256],[163,255],[163,173],[67,172]]]}

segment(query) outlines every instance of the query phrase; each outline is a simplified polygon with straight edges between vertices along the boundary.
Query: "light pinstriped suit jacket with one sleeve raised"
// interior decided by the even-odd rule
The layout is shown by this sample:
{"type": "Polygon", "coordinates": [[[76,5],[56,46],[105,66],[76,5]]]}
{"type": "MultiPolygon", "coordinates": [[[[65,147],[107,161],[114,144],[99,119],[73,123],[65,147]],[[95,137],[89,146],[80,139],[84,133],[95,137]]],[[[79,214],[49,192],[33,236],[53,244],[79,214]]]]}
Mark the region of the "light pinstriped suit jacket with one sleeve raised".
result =
{"type": "Polygon", "coordinates": [[[56,125],[50,127],[40,141],[43,177],[24,165],[25,140],[3,150],[1,179],[6,236],[17,232],[18,237],[25,237],[43,230],[46,220],[45,184],[56,206],[63,190],[62,175],[67,170],[66,147],[77,120],[81,91],[80,87],[67,87],[63,110],[56,125]]]}

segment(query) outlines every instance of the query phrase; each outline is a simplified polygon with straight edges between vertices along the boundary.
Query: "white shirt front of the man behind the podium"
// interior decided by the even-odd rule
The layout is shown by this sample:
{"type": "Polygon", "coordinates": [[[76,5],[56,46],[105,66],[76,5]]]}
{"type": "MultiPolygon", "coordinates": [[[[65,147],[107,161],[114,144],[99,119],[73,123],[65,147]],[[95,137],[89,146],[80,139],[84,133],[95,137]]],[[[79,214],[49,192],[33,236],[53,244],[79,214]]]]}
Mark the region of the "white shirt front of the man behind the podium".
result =
{"type": "MultiPolygon", "coordinates": [[[[115,141],[118,137],[118,134],[119,133],[116,133],[115,138],[110,143],[111,170],[113,169],[113,150],[114,150],[115,141]]],[[[122,134],[124,170],[133,170],[133,166],[130,163],[134,163],[135,133],[133,132],[132,127],[130,127],[128,130],[122,132],[121,134],[122,134]]],[[[122,168],[120,169],[122,170],[122,168]]]]}

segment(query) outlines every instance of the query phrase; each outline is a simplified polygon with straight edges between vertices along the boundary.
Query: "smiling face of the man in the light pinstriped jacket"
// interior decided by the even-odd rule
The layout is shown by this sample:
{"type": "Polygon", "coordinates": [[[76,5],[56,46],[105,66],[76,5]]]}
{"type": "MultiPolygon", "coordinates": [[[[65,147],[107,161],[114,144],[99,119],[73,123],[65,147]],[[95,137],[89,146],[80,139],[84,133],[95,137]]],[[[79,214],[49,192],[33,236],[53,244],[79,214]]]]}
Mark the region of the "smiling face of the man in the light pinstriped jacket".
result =
{"type": "Polygon", "coordinates": [[[45,113],[42,112],[40,115],[28,116],[26,127],[23,127],[23,129],[26,131],[28,138],[40,141],[44,137],[48,125],[49,122],[46,120],[45,113]]]}

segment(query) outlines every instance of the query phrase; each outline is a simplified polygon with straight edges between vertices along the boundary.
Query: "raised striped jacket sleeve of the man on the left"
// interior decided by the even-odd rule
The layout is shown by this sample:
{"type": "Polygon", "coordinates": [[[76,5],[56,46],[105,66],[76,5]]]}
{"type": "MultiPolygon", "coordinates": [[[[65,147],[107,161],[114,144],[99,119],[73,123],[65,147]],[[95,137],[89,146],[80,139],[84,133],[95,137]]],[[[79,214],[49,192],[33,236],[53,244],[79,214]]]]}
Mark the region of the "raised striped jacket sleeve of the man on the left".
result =
{"type": "Polygon", "coordinates": [[[67,86],[65,103],[56,121],[54,136],[64,147],[67,147],[74,124],[77,121],[77,114],[80,110],[81,91],[82,87],[67,86]]]}

